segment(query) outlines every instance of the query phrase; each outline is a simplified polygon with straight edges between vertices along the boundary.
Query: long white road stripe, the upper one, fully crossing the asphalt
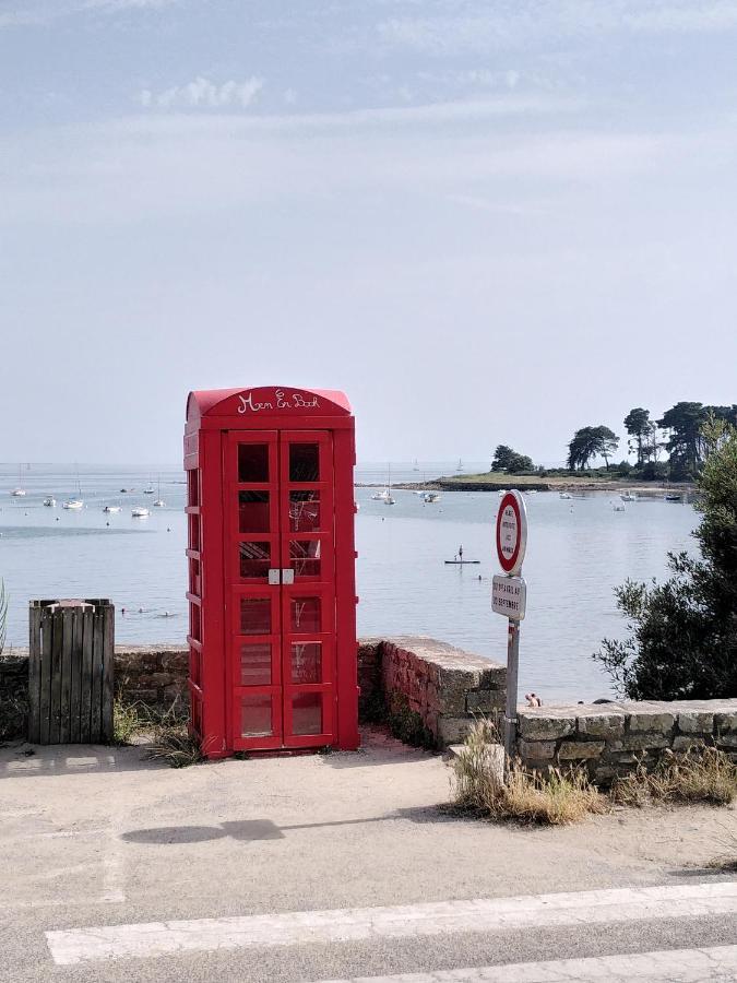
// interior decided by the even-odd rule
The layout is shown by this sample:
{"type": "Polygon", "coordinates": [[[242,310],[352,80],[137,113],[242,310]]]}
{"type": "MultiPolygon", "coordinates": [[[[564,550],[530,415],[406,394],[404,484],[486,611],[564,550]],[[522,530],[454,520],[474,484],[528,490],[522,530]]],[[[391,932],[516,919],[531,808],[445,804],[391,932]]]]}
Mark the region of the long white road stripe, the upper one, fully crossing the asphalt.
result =
{"type": "Polygon", "coordinates": [[[347,943],[452,932],[737,914],[737,883],[616,888],[387,908],[296,911],[223,919],[104,925],[47,932],[54,961],[140,959],[214,949],[347,943]]]}

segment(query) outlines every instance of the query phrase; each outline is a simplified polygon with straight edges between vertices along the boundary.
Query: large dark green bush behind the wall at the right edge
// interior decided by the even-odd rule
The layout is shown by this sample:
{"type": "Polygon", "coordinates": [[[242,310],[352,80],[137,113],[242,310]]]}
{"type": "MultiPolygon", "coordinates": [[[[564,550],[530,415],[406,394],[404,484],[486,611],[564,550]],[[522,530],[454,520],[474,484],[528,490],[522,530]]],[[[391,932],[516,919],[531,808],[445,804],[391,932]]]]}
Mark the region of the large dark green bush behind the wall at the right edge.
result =
{"type": "Polygon", "coordinates": [[[712,415],[698,446],[701,557],[668,554],[665,583],[617,588],[631,635],[594,654],[630,699],[737,697],[737,429],[712,415]]]}

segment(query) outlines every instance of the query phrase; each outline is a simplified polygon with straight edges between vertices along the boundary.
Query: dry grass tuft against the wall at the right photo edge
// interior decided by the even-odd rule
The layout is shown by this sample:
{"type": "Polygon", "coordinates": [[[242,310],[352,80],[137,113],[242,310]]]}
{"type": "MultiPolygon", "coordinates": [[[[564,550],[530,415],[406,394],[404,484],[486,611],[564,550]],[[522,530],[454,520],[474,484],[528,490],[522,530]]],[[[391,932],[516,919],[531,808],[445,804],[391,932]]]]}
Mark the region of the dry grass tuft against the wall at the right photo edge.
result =
{"type": "Polygon", "coordinates": [[[715,747],[692,747],[677,754],[666,751],[654,771],[644,763],[611,787],[621,805],[650,802],[706,802],[729,805],[737,796],[737,765],[715,747]]]}

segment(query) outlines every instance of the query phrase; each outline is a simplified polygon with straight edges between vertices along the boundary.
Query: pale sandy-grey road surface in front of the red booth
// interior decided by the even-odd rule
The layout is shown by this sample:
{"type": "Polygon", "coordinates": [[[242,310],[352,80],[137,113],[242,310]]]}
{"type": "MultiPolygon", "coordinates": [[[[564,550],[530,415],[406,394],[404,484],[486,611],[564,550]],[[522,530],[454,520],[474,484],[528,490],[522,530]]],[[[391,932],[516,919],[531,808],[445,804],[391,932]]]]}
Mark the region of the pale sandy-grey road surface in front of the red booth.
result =
{"type": "MultiPolygon", "coordinates": [[[[138,748],[20,751],[0,750],[2,981],[292,983],[501,964],[513,981],[521,963],[676,950],[677,969],[688,950],[737,945],[734,877],[705,866],[737,842],[734,808],[566,829],[459,819],[438,809],[442,760],[377,733],[357,755],[182,771],[138,748]],[[619,889],[631,893],[606,895],[619,889]],[[518,899],[516,913],[499,899],[518,899]],[[450,907],[436,917],[435,902],[450,907]],[[331,914],[304,914],[319,910],[331,914]],[[103,926],[117,926],[107,955],[103,926]]],[[[569,969],[579,975],[555,979],[590,972],[556,972],[569,969]]],[[[703,979],[737,979],[737,961],[703,979]]]]}

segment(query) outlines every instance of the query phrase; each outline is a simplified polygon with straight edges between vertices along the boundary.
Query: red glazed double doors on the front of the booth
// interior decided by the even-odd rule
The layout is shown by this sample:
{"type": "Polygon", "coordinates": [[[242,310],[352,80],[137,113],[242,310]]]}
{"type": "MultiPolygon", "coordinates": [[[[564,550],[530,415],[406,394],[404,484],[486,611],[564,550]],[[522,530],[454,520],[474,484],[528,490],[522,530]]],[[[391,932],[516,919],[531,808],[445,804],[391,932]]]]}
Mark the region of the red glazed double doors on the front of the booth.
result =
{"type": "Polygon", "coordinates": [[[231,746],[332,744],[332,435],[230,431],[224,455],[231,746]]]}

